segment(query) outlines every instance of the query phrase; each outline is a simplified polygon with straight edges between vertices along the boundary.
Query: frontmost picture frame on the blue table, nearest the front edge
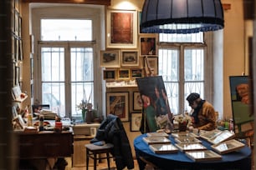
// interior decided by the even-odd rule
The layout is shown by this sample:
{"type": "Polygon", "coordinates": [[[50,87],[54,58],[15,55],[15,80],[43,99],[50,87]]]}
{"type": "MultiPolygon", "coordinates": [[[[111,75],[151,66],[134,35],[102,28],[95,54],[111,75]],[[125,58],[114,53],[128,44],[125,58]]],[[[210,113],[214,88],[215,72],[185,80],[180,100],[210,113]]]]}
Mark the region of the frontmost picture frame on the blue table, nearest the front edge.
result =
{"type": "Polygon", "coordinates": [[[203,151],[187,151],[185,152],[188,158],[199,161],[218,161],[222,159],[222,156],[218,153],[214,153],[212,150],[203,151]]]}

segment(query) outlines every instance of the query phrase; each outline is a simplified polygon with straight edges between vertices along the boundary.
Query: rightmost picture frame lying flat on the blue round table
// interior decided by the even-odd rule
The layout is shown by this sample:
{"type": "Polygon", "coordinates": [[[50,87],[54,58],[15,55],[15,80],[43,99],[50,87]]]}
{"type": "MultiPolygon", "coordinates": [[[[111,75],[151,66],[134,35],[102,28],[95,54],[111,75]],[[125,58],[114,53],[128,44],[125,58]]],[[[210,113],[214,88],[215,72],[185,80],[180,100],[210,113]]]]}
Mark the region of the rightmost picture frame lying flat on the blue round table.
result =
{"type": "Polygon", "coordinates": [[[211,148],[219,154],[231,153],[237,151],[245,146],[236,139],[231,139],[223,143],[212,145],[211,148]]]}

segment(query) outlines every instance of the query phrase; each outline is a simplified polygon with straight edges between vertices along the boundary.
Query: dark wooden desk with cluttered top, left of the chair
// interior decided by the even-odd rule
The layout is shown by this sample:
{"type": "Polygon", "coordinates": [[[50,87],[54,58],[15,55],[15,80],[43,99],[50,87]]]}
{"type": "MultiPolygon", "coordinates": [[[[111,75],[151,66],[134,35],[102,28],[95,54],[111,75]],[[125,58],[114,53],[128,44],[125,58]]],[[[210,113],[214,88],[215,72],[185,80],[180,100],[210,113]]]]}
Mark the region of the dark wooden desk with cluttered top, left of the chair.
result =
{"type": "Polygon", "coordinates": [[[19,158],[65,158],[71,157],[73,132],[43,131],[39,133],[18,133],[19,158]]]}

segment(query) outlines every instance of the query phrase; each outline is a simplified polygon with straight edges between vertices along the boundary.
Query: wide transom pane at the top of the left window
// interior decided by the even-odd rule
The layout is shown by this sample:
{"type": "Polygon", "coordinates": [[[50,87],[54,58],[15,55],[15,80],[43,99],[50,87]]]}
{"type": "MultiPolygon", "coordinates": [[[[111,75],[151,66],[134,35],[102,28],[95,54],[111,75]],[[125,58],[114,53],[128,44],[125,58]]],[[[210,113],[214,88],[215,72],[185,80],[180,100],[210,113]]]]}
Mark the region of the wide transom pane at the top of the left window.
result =
{"type": "Polygon", "coordinates": [[[92,21],[85,19],[41,19],[42,41],[91,41],[92,21]]]}

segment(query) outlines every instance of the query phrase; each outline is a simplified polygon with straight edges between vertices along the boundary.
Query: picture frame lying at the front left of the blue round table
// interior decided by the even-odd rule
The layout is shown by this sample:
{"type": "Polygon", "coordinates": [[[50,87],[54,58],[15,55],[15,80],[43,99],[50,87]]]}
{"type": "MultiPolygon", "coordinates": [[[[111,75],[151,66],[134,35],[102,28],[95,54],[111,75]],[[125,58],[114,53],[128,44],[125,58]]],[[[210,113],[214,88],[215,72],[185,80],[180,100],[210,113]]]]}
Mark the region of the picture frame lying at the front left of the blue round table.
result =
{"type": "Polygon", "coordinates": [[[177,153],[178,148],[176,148],[172,143],[170,144],[152,144],[149,146],[152,152],[156,154],[165,153],[177,153]]]}

